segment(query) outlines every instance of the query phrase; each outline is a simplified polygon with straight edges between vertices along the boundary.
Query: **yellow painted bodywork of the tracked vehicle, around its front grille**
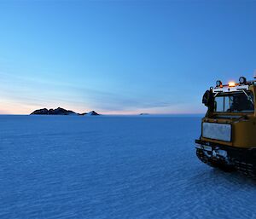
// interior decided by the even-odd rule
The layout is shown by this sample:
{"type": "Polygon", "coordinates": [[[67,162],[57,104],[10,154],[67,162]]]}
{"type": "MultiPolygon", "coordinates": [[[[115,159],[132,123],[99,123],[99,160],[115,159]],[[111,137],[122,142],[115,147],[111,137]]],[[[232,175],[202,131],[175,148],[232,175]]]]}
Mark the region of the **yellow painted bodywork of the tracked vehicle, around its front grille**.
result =
{"type": "MultiPolygon", "coordinates": [[[[255,100],[255,85],[250,85],[249,90],[253,92],[254,103],[255,100]]],[[[231,147],[242,147],[250,148],[256,147],[256,109],[254,104],[253,113],[229,113],[229,112],[210,112],[205,118],[202,118],[203,122],[208,123],[218,123],[218,124],[231,124],[232,125],[232,140],[218,141],[208,138],[201,137],[202,141],[214,142],[221,145],[231,146],[231,147]],[[240,116],[240,118],[214,118],[218,115],[232,115],[240,116]]]]}

